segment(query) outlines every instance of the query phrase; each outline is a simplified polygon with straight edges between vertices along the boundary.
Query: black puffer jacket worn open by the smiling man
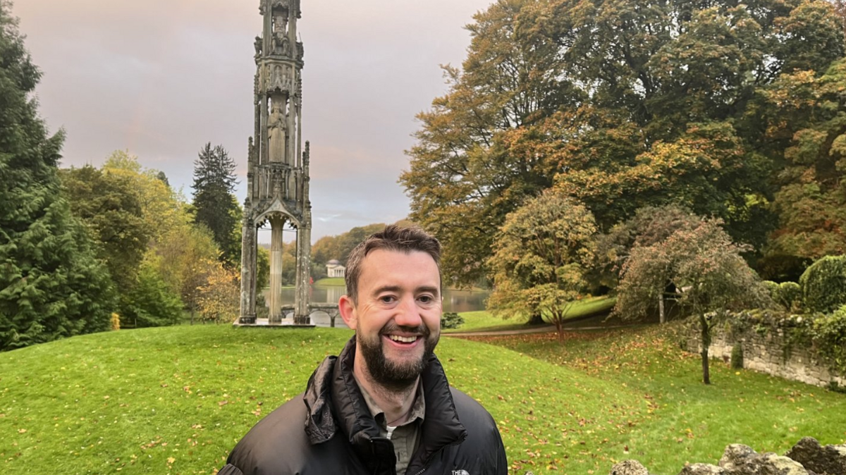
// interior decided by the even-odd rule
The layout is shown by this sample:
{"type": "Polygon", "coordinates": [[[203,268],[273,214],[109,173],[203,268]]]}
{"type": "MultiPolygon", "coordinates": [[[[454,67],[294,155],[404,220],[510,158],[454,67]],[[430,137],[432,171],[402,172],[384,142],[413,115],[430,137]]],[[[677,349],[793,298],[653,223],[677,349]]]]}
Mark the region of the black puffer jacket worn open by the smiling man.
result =
{"type": "MultiPolygon", "coordinates": [[[[353,378],[354,354],[355,337],[315,370],[302,399],[294,397],[244,435],[218,475],[395,475],[393,443],[379,436],[353,378]]],[[[449,387],[436,357],[421,376],[426,418],[406,475],[508,473],[491,415],[449,387]]]]}

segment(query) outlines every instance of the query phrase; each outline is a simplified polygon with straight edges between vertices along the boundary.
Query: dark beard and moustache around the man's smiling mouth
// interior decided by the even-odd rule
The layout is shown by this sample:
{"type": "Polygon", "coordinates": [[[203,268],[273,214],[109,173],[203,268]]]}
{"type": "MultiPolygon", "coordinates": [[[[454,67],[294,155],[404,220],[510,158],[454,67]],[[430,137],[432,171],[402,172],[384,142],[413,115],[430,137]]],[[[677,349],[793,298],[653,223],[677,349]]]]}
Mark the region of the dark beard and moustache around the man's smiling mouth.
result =
{"type": "Polygon", "coordinates": [[[382,327],[382,330],[379,330],[379,334],[375,339],[371,340],[361,334],[357,334],[356,343],[361,350],[361,356],[365,358],[365,366],[373,382],[387,390],[400,391],[414,385],[417,378],[420,377],[420,373],[429,365],[429,358],[432,352],[435,351],[440,336],[440,332],[432,336],[431,331],[426,325],[408,327],[389,322],[382,327]],[[400,330],[417,333],[423,339],[423,354],[420,358],[401,362],[385,358],[385,352],[382,348],[382,336],[400,330]]]}

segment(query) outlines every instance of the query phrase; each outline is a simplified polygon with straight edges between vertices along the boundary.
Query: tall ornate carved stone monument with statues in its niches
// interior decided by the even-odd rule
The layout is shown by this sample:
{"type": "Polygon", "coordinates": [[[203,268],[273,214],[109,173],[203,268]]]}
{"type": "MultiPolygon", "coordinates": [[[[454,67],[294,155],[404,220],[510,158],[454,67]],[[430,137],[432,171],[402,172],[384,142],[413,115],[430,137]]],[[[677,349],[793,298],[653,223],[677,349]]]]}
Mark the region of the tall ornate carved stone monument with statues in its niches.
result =
{"type": "Polygon", "coordinates": [[[261,0],[255,37],[255,137],[250,137],[241,243],[241,316],[254,325],[259,227],[271,227],[269,325],[283,323],[282,231],[297,231],[294,325],[309,325],[311,203],[309,143],[302,148],[303,45],[297,41],[299,0],[261,0]],[[293,45],[293,47],[292,47],[293,45]]]}

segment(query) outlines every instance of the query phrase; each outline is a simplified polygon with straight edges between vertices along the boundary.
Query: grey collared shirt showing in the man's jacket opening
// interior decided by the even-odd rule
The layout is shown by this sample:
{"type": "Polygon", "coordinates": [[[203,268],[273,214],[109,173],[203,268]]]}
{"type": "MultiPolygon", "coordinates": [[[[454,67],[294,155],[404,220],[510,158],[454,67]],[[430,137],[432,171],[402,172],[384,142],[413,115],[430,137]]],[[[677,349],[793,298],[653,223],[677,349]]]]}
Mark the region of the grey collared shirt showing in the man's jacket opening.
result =
{"type": "Polygon", "coordinates": [[[360,385],[357,379],[355,382],[359,385],[361,395],[365,397],[367,408],[370,409],[371,415],[379,426],[379,434],[393,442],[393,453],[397,456],[397,475],[404,475],[405,469],[409,467],[411,456],[414,455],[417,445],[420,443],[420,427],[424,416],[426,416],[426,398],[423,396],[423,385],[417,385],[417,393],[415,394],[415,401],[411,405],[409,418],[404,423],[393,427],[387,425],[385,412],[376,404],[376,401],[365,390],[364,386],[360,385]]]}

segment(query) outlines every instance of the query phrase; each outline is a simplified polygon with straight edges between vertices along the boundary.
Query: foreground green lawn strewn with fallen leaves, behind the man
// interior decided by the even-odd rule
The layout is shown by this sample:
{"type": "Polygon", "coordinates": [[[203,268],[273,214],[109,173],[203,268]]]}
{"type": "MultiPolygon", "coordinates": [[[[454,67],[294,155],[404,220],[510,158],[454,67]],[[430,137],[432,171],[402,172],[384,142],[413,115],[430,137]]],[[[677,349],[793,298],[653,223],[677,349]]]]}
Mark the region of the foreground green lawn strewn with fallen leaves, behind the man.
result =
{"type": "MultiPolygon", "coordinates": [[[[699,362],[665,329],[443,338],[450,381],[500,426],[512,473],[604,475],[625,458],[674,475],[743,442],[783,451],[846,439],[846,395],[699,362]],[[488,344],[488,343],[494,343],[488,344]]],[[[181,325],[0,353],[6,473],[213,473],[352,334],[181,325]]]]}

